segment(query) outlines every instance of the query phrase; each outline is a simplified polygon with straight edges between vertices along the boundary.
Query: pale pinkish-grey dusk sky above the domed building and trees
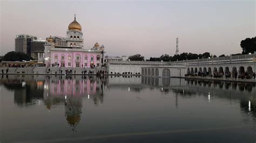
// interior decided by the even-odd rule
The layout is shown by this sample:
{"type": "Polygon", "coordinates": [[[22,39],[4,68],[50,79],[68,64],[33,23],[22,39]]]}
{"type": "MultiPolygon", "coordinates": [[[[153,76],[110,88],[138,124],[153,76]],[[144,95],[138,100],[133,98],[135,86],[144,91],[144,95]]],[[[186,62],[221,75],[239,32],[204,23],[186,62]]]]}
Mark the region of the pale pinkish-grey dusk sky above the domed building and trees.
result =
{"type": "Polygon", "coordinates": [[[2,1],[0,55],[18,34],[66,37],[76,13],[84,48],[98,42],[106,55],[146,58],[179,52],[241,53],[256,35],[256,1],[2,1]]]}

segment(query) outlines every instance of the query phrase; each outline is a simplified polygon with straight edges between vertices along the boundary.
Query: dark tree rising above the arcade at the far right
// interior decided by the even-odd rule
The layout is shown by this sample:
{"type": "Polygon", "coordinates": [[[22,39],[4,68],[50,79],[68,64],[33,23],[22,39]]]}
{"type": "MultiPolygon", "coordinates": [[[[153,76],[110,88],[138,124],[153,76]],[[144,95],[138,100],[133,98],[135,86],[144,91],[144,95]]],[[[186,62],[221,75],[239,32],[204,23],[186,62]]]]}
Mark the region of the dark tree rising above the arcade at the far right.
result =
{"type": "Polygon", "coordinates": [[[246,38],[240,43],[242,54],[254,53],[256,51],[256,37],[246,38]]]}

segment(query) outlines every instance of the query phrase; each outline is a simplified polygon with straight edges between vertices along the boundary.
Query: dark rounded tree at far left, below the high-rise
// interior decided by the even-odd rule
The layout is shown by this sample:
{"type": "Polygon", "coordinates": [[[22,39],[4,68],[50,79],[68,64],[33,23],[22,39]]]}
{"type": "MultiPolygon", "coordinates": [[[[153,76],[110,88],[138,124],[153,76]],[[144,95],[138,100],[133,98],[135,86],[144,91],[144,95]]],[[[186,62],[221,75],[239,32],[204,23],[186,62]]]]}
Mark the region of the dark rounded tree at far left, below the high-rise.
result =
{"type": "Polygon", "coordinates": [[[3,61],[29,61],[33,60],[31,56],[22,52],[8,52],[4,55],[3,61]]]}

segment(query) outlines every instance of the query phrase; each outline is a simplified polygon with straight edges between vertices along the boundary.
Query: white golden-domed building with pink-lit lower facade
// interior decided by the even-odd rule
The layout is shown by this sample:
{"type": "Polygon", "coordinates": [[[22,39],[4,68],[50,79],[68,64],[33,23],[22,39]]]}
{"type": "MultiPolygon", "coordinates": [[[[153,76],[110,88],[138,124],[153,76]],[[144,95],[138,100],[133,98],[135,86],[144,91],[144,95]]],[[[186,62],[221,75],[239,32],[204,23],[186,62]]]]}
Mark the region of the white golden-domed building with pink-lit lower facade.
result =
{"type": "Polygon", "coordinates": [[[69,24],[66,38],[49,37],[44,45],[45,64],[62,67],[102,67],[104,64],[104,45],[98,42],[92,48],[84,48],[82,26],[76,16],[69,24]]]}

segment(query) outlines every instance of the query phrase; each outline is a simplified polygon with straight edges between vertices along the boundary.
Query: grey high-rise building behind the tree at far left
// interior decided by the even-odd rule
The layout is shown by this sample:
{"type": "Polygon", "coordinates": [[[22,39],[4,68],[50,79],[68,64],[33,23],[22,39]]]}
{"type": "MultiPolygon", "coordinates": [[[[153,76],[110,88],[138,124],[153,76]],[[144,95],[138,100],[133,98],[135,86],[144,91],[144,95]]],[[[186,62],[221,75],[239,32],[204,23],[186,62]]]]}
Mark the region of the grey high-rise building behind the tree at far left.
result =
{"type": "Polygon", "coordinates": [[[15,38],[15,52],[23,52],[31,55],[31,41],[37,40],[34,35],[21,34],[15,38]]]}

